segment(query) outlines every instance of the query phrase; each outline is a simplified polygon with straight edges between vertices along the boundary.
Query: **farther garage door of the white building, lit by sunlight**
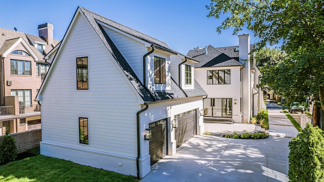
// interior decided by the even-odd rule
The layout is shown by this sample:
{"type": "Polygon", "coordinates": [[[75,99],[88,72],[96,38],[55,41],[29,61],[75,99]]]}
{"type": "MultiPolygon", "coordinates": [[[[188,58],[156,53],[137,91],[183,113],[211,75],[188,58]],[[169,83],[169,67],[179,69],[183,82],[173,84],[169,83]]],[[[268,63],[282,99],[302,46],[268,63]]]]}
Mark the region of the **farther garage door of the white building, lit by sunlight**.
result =
{"type": "Polygon", "coordinates": [[[196,110],[175,115],[175,118],[178,119],[178,127],[175,128],[175,140],[177,147],[179,147],[196,134],[196,110]]]}

